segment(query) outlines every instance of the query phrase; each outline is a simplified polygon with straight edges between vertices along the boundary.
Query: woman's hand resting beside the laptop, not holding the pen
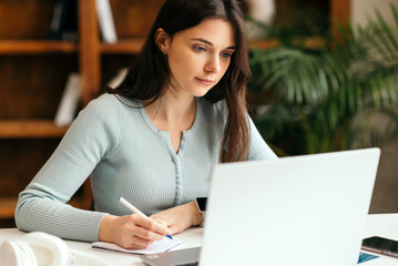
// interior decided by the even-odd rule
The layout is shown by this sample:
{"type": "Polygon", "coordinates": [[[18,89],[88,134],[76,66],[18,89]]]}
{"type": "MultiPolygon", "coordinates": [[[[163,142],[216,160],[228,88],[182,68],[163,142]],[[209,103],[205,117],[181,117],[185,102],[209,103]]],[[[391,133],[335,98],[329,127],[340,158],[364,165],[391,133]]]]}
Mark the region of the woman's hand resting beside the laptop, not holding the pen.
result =
{"type": "Polygon", "coordinates": [[[151,218],[166,224],[172,234],[177,234],[202,223],[202,214],[197,211],[195,202],[159,212],[151,215],[151,218]]]}

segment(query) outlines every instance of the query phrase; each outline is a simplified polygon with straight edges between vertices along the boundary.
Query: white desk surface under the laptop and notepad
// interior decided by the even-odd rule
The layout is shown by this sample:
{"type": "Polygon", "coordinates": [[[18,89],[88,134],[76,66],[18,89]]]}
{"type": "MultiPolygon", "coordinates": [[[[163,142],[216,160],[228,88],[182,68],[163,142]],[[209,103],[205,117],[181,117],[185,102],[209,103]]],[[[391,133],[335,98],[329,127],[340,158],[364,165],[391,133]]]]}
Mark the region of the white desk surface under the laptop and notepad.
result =
{"type": "MultiPolygon", "coordinates": [[[[203,233],[203,228],[191,228],[188,231],[185,231],[176,235],[176,237],[178,237],[183,242],[183,244],[176,247],[175,249],[201,246],[202,233],[203,233]]],[[[23,232],[20,232],[17,228],[0,229],[0,244],[7,239],[19,238],[23,234],[24,234],[23,232]]],[[[398,241],[398,214],[368,215],[364,238],[373,235],[379,235],[382,237],[398,241]]],[[[86,252],[98,257],[101,257],[103,262],[109,263],[109,265],[120,265],[120,266],[144,265],[136,255],[121,254],[121,253],[105,252],[105,250],[93,250],[91,248],[91,243],[67,241],[67,244],[71,248],[86,252]]],[[[360,266],[397,266],[398,265],[398,258],[387,257],[382,255],[379,256],[380,256],[379,258],[363,263],[360,264],[360,266]]]]}

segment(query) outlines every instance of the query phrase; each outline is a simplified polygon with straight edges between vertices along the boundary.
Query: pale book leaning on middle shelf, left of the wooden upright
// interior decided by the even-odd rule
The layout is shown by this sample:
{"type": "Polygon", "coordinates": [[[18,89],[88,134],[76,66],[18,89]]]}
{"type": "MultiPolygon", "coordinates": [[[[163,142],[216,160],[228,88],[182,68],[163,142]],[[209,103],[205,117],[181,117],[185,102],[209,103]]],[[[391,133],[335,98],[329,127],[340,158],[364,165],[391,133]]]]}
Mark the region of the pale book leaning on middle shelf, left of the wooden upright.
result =
{"type": "Polygon", "coordinates": [[[80,74],[70,73],[55,113],[54,124],[70,125],[79,110],[81,100],[80,74]]]}

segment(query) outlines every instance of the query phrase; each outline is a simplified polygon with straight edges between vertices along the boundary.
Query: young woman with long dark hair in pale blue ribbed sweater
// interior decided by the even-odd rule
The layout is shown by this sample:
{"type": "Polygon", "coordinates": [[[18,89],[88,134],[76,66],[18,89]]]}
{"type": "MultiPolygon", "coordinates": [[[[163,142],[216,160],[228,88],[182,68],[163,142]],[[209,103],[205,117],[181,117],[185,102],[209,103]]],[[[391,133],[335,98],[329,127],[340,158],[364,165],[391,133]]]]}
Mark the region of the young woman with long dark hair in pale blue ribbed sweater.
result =
{"type": "Polygon", "coordinates": [[[200,225],[212,165],[276,158],[247,115],[249,74],[237,0],[167,0],[124,81],[80,112],[20,193],[18,227],[142,248],[200,225]],[[95,211],[65,204],[89,175],[95,211]]]}

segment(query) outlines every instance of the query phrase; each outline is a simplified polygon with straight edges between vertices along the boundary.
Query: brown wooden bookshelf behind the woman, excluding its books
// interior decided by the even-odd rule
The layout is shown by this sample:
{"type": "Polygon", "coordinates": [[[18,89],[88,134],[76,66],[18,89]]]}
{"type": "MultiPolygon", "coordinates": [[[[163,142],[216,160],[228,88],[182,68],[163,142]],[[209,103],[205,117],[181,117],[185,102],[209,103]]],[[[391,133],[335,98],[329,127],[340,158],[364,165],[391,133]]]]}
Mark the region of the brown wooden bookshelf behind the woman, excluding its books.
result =
{"type": "MultiPolygon", "coordinates": [[[[134,60],[164,2],[111,0],[119,41],[108,44],[101,41],[95,0],[78,1],[78,43],[49,40],[55,0],[0,2],[0,219],[12,219],[18,193],[68,130],[53,123],[68,75],[80,73],[83,105],[96,98],[105,82],[134,60]]],[[[333,19],[345,21],[348,14],[348,0],[330,0],[333,19]]],[[[267,49],[277,43],[251,45],[267,49]]],[[[90,207],[89,182],[71,204],[90,207]]]]}

